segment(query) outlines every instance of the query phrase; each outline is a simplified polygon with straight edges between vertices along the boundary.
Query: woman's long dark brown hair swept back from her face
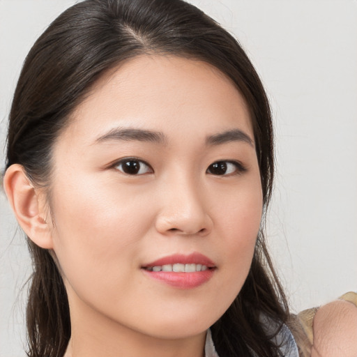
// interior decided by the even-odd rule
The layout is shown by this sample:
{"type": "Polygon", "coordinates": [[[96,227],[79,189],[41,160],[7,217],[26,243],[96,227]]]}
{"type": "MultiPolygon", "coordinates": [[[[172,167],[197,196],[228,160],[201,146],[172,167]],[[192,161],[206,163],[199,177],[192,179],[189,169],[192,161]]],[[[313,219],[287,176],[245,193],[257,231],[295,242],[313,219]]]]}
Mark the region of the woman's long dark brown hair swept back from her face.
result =
{"type": "MultiPolygon", "coordinates": [[[[6,167],[22,165],[34,185],[50,190],[52,147],[75,107],[109,68],[153,53],[206,61],[236,84],[252,117],[266,210],[274,155],[264,88],[238,42],[181,0],[86,0],[54,20],[22,68],[10,111],[6,167]]],[[[281,354],[272,337],[289,314],[262,231],[241,292],[211,327],[222,357],[281,354]],[[263,315],[276,326],[274,331],[261,326],[263,315]]],[[[70,338],[66,289],[50,252],[28,242],[33,259],[26,314],[28,356],[61,357],[70,338]]]]}

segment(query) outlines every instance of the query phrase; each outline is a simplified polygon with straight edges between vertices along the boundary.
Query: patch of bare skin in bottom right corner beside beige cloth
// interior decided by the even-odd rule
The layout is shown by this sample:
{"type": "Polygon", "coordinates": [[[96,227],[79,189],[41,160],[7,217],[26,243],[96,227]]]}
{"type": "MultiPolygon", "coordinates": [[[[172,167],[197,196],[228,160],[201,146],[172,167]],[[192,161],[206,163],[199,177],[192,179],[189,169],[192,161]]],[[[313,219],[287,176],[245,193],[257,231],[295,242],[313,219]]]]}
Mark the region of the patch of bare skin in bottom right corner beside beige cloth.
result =
{"type": "Polygon", "coordinates": [[[337,300],[321,306],[313,321],[311,357],[357,356],[357,307],[337,300]]]}

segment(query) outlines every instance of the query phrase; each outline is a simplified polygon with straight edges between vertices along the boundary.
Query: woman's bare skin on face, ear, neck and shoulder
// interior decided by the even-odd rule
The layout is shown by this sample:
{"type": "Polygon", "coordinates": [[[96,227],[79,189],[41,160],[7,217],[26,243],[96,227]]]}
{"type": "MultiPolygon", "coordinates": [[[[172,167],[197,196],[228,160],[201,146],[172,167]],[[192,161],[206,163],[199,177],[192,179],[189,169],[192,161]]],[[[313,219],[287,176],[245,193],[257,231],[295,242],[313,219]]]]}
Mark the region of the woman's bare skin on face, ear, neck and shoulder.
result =
{"type": "MultiPolygon", "coordinates": [[[[206,329],[248,274],[261,219],[254,142],[206,144],[206,136],[232,128],[252,141],[245,102],[217,69],[141,56],[107,73],[77,107],[54,144],[48,190],[34,187],[20,165],[7,170],[4,188],[17,220],[52,251],[66,284],[66,357],[203,356],[206,329]],[[98,141],[114,128],[155,130],[165,141],[98,141]],[[114,165],[132,156],[149,164],[137,176],[114,165]],[[207,171],[222,160],[246,171],[207,171]],[[213,278],[200,287],[177,289],[142,272],[150,261],[191,252],[215,262],[213,278]]],[[[357,356],[356,331],[353,304],[321,307],[311,356],[357,356]]]]}

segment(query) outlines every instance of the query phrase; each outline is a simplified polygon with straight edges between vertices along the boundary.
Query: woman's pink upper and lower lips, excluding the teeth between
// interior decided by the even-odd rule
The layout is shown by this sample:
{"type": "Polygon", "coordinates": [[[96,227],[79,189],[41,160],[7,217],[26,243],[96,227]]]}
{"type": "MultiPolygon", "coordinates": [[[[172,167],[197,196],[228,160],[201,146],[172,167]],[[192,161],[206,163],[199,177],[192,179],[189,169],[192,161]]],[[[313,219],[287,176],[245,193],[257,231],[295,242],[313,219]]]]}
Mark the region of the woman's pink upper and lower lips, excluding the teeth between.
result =
{"type": "Polygon", "coordinates": [[[142,267],[144,274],[159,280],[165,284],[179,289],[193,289],[199,287],[200,285],[208,282],[215,272],[215,264],[208,257],[200,254],[193,253],[190,255],[170,255],[169,257],[164,257],[155,260],[149,264],[145,264],[142,267]],[[202,264],[208,266],[206,271],[195,271],[193,273],[175,273],[172,271],[148,271],[145,268],[150,268],[152,266],[162,266],[166,264],[202,264]]]}

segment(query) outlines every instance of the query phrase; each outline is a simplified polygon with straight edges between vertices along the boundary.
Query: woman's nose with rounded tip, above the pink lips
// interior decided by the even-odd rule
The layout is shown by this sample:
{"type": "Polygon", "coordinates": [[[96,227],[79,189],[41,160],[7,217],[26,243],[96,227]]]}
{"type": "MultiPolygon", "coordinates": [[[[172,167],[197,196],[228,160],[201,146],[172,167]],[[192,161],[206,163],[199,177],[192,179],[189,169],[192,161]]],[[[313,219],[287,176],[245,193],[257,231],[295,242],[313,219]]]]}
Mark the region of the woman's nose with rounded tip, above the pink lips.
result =
{"type": "Polygon", "coordinates": [[[160,193],[160,211],[155,227],[164,235],[206,236],[213,220],[208,211],[207,195],[197,182],[189,179],[165,184],[160,193]]]}

